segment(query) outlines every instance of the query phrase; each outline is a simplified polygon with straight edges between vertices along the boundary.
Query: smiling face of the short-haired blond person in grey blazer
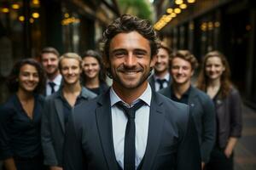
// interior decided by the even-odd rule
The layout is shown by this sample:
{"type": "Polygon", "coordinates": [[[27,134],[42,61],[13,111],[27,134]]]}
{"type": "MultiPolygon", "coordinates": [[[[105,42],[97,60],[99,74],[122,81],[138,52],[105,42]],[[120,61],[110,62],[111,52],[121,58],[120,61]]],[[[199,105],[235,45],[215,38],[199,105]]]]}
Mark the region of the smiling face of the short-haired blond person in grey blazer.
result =
{"type": "Polygon", "coordinates": [[[78,83],[81,71],[78,59],[61,59],[61,75],[65,84],[78,83]]]}

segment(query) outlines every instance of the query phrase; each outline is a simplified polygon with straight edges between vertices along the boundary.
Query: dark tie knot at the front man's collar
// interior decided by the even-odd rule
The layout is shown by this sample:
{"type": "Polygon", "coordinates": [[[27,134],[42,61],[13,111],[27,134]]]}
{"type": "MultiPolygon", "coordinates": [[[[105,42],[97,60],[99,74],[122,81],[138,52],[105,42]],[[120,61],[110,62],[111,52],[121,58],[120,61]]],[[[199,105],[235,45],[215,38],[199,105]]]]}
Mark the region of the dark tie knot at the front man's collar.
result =
{"type": "Polygon", "coordinates": [[[122,101],[119,101],[116,105],[125,112],[128,119],[134,119],[136,111],[144,105],[144,102],[139,100],[132,107],[127,107],[122,101]]]}

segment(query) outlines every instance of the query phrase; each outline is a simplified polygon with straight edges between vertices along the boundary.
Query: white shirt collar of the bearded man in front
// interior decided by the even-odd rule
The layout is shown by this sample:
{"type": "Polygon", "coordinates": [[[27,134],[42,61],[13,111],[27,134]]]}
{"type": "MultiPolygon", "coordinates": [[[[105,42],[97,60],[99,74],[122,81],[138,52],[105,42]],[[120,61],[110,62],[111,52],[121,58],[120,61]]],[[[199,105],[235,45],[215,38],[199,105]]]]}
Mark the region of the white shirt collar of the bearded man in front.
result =
{"type": "MultiPolygon", "coordinates": [[[[135,99],[131,105],[134,105],[137,103],[138,99],[143,100],[148,106],[150,106],[150,102],[151,102],[151,97],[152,97],[152,91],[151,88],[148,84],[148,87],[146,88],[146,90],[143,92],[143,94],[138,97],[137,99],[135,99]]],[[[110,102],[111,102],[111,106],[115,105],[116,103],[118,103],[119,101],[122,101],[123,103],[125,103],[125,101],[123,101],[122,99],[119,98],[118,94],[116,94],[113,90],[113,87],[110,88],[110,102]]],[[[125,105],[128,105],[125,103],[125,105]]]]}

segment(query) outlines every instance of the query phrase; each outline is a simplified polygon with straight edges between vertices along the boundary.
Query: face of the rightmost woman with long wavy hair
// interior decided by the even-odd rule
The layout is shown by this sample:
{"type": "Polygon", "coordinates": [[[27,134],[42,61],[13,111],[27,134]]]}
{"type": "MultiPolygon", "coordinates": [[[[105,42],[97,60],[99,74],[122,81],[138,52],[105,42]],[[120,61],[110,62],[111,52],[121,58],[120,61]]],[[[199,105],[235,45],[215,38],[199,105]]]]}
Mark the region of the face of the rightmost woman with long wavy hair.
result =
{"type": "Polygon", "coordinates": [[[207,59],[205,69],[206,75],[210,80],[217,80],[220,79],[225,67],[219,57],[212,56],[207,59]]]}

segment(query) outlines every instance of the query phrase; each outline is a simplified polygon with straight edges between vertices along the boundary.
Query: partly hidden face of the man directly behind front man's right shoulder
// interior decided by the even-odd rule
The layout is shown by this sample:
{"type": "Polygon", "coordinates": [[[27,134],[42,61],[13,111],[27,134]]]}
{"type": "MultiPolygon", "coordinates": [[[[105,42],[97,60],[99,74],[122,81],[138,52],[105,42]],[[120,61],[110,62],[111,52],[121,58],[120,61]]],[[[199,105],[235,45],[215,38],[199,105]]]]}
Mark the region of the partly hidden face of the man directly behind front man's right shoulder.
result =
{"type": "Polygon", "coordinates": [[[156,61],[154,65],[154,72],[158,76],[160,74],[166,74],[169,67],[169,54],[165,48],[160,48],[156,55],[156,61]]]}

